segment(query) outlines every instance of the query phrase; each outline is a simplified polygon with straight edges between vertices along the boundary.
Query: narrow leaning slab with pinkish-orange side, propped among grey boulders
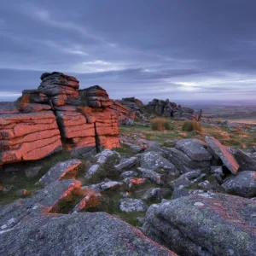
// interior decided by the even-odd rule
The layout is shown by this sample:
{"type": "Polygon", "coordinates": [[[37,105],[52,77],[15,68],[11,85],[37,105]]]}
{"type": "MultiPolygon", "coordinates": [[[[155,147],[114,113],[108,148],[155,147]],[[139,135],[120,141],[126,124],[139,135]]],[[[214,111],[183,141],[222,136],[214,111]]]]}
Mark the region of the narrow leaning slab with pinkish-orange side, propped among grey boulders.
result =
{"type": "Polygon", "coordinates": [[[216,138],[206,137],[207,145],[213,150],[215,154],[223,161],[230,172],[236,174],[239,169],[239,165],[232,154],[224,147],[216,138]]]}

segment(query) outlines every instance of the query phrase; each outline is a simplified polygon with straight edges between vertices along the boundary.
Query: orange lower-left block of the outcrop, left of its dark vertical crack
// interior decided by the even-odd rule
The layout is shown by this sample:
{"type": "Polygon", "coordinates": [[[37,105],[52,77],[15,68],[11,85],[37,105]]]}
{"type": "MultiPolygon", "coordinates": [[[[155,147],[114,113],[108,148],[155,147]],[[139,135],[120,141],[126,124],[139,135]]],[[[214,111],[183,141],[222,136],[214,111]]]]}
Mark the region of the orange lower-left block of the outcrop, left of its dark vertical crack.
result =
{"type": "Polygon", "coordinates": [[[32,113],[20,113],[18,108],[0,111],[0,166],[38,160],[61,149],[60,131],[50,107],[32,113]]]}

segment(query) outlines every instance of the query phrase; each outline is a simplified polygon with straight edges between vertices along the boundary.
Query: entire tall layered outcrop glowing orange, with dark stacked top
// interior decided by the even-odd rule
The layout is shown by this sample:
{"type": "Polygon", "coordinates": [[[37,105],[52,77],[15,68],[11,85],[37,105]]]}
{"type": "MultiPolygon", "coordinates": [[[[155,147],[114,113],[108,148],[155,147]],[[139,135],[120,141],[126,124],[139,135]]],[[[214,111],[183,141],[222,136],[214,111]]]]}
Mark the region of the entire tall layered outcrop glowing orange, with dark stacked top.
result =
{"type": "Polygon", "coordinates": [[[119,118],[131,110],[111,108],[117,105],[102,87],[79,90],[79,80],[64,73],[43,73],[41,80],[38,90],[0,104],[0,165],[39,160],[63,147],[88,156],[119,146],[119,118]]]}

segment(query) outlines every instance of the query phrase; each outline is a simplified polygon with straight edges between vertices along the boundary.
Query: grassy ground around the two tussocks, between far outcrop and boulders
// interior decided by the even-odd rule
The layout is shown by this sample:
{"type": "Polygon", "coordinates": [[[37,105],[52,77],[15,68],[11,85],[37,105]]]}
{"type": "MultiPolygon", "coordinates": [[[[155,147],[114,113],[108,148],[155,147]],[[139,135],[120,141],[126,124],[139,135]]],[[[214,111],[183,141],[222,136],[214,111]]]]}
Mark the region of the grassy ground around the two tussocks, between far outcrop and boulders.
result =
{"type": "Polygon", "coordinates": [[[164,144],[166,140],[182,140],[185,138],[197,138],[204,140],[206,136],[218,138],[225,146],[237,148],[252,148],[256,145],[256,131],[251,130],[229,130],[217,125],[202,124],[202,131],[182,131],[183,121],[172,120],[172,131],[152,131],[151,127],[136,125],[123,126],[121,134],[143,133],[149,140],[164,144]]]}

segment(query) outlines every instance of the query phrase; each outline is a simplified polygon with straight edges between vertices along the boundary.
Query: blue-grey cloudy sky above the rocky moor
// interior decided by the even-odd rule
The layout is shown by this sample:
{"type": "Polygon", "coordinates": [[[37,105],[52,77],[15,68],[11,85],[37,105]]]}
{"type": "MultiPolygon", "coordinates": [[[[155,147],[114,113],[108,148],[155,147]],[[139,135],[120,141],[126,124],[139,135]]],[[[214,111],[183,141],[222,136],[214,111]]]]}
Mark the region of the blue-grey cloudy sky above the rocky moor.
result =
{"type": "Polygon", "coordinates": [[[255,10],[255,0],[1,0],[0,101],[53,71],[113,99],[256,100],[255,10]]]}

